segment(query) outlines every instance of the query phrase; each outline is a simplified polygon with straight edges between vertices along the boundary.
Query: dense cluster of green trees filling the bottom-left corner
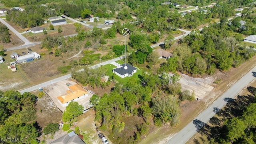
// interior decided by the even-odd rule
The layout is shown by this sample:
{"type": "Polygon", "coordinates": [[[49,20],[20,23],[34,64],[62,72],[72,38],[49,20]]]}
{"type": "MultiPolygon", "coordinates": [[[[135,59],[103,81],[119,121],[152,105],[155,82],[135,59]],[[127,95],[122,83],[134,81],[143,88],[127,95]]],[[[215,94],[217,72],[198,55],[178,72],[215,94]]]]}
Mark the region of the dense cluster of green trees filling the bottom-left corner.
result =
{"type": "MultiPolygon", "coordinates": [[[[29,143],[38,136],[38,130],[34,120],[36,96],[18,91],[0,91],[0,137],[20,138],[29,143]]],[[[6,143],[10,143],[7,141],[6,143]]]]}

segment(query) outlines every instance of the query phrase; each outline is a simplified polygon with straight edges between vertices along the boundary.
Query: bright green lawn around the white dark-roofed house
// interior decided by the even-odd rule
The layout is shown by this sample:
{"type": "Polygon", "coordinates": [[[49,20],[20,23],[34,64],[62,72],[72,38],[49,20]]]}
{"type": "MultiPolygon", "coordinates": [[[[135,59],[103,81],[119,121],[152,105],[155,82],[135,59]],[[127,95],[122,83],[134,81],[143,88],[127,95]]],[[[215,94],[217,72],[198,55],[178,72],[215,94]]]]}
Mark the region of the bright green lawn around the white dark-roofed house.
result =
{"type": "MultiPolygon", "coordinates": [[[[105,66],[103,66],[105,68],[108,68],[108,72],[107,72],[107,75],[108,76],[112,76],[113,72],[113,68],[116,68],[116,66],[114,66],[113,64],[106,64],[105,66]]],[[[122,84],[126,84],[127,81],[130,79],[130,78],[134,78],[135,80],[140,80],[138,75],[142,75],[142,71],[141,70],[138,70],[137,69],[137,72],[135,74],[133,74],[133,76],[130,76],[130,77],[125,77],[125,78],[121,78],[119,76],[116,76],[116,81],[122,83],[122,84]]]]}

